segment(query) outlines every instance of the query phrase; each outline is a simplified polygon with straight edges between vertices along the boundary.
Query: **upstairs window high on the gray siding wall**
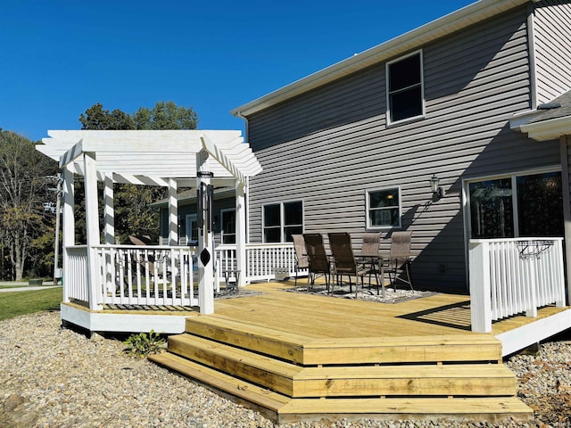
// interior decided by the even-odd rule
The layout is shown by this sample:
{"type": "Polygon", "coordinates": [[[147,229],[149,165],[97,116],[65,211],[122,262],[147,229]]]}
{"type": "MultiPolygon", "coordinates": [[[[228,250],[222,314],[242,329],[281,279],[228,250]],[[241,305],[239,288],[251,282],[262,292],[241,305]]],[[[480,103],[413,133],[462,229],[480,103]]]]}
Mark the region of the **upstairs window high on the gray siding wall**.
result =
{"type": "Polygon", "coordinates": [[[418,118],[424,114],[422,53],[386,64],[388,122],[418,118]]]}

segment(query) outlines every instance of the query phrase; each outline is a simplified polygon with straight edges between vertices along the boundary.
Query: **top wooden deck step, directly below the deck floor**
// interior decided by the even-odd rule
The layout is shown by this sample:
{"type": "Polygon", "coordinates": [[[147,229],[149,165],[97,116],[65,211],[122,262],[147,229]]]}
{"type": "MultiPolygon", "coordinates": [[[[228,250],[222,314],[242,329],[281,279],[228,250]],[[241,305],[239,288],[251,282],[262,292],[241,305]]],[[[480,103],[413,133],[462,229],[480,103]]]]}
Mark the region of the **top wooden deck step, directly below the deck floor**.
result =
{"type": "Polygon", "coordinates": [[[186,332],[302,366],[501,361],[489,334],[326,339],[211,316],[186,319],[186,332]]]}

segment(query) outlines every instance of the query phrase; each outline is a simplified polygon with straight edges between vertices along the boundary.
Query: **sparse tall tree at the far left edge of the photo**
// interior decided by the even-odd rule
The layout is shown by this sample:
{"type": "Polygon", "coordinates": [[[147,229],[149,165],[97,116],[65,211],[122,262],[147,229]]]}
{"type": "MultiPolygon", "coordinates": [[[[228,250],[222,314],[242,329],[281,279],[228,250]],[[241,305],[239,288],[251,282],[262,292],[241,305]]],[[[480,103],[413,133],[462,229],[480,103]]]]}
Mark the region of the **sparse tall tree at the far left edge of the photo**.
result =
{"type": "Polygon", "coordinates": [[[0,239],[7,249],[12,279],[23,278],[34,255],[34,242],[53,235],[53,213],[44,203],[54,202],[48,187],[57,164],[37,152],[35,144],[11,131],[0,131],[0,239]]]}

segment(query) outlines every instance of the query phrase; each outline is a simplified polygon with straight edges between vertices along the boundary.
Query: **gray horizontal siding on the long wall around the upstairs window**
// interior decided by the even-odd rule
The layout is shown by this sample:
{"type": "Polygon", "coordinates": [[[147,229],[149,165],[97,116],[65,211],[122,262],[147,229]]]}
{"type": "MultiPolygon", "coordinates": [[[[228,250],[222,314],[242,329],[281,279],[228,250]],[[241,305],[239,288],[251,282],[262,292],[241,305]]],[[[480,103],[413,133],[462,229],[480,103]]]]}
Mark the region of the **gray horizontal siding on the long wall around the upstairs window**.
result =
{"type": "Polygon", "coordinates": [[[531,103],[525,24],[524,7],[426,45],[425,119],[386,127],[385,64],[249,117],[264,169],[251,180],[251,241],[261,242],[263,204],[302,200],[306,232],[347,231],[360,248],[366,190],[400,186],[418,282],[464,287],[462,178],[559,163],[557,142],[509,129],[531,103]],[[429,203],[434,173],[446,195],[429,203]]]}

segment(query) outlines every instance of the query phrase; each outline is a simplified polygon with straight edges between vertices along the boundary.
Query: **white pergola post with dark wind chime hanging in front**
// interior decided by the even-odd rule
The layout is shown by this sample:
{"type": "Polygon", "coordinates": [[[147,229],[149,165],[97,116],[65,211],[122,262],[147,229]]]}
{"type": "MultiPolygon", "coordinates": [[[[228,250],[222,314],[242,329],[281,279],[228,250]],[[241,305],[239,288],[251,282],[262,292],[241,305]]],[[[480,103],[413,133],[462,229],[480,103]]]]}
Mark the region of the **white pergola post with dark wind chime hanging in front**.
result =
{"type": "MultiPolygon", "coordinates": [[[[196,187],[210,185],[212,174],[208,168],[208,152],[202,150],[196,153],[196,187]]],[[[199,192],[200,194],[200,192],[199,192]]],[[[203,227],[198,232],[198,304],[200,313],[203,315],[214,313],[214,264],[215,254],[212,244],[212,232],[210,230],[209,217],[212,213],[207,210],[210,204],[208,197],[203,198],[203,203],[198,203],[202,212],[197,212],[197,218],[202,218],[203,227]]]]}

